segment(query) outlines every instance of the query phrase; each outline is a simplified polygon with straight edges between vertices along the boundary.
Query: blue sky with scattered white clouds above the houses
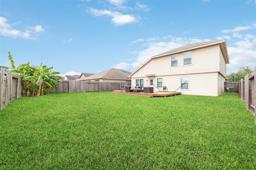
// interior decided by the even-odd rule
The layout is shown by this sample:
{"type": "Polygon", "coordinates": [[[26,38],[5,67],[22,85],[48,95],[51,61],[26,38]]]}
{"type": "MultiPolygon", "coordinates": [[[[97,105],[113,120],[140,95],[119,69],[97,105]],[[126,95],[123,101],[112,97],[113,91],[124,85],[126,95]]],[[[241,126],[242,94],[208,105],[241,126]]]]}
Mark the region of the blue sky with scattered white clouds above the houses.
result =
{"type": "Polygon", "coordinates": [[[135,71],[189,43],[226,40],[230,64],[256,66],[255,0],[0,0],[0,65],[30,62],[62,76],[135,71]]]}

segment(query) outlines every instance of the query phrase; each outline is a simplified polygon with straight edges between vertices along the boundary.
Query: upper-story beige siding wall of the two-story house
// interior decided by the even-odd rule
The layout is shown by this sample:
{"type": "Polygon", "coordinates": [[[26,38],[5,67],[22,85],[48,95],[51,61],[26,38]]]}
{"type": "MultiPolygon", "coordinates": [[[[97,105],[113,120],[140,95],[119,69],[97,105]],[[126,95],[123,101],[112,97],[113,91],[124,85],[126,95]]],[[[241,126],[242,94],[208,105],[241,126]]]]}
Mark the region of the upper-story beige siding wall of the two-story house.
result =
{"type": "Polygon", "coordinates": [[[192,64],[183,65],[183,53],[178,54],[178,66],[171,67],[170,55],[154,58],[145,64],[132,77],[144,77],[146,74],[155,76],[191,74],[219,71],[219,46],[214,45],[192,51],[192,64]]]}

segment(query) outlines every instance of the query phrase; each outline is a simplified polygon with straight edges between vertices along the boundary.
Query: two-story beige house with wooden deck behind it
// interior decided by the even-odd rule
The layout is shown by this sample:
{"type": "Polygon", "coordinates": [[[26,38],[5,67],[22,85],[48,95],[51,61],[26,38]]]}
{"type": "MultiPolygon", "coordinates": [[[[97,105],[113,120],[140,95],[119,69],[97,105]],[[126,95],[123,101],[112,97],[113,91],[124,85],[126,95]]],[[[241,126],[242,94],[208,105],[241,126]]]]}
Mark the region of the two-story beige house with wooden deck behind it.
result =
{"type": "Polygon", "coordinates": [[[154,91],[166,86],[182,94],[219,96],[228,63],[225,40],[194,43],[151,57],[130,77],[132,86],[154,87],[154,91]]]}

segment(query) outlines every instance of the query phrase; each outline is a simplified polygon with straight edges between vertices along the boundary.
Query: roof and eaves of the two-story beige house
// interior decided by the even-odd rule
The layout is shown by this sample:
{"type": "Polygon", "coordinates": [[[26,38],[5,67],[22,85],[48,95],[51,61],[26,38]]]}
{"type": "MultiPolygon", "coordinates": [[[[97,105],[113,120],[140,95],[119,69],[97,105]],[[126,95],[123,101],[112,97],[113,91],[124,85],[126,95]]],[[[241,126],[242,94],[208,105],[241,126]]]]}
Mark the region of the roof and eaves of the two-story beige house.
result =
{"type": "MultiPolygon", "coordinates": [[[[226,46],[226,41],[225,40],[220,40],[220,41],[208,41],[208,42],[202,42],[202,43],[193,43],[193,44],[188,44],[188,45],[184,45],[182,47],[178,47],[176,49],[167,51],[165,53],[161,53],[159,55],[153,56],[151,57],[148,61],[146,61],[146,63],[148,63],[150,60],[158,58],[158,57],[164,57],[166,55],[172,55],[175,53],[181,53],[184,51],[190,51],[190,50],[194,50],[194,49],[199,49],[199,48],[204,48],[204,47],[208,47],[208,46],[212,46],[212,45],[220,45],[220,48],[222,50],[224,59],[226,64],[229,64],[229,58],[228,58],[228,49],[226,46]]],[[[142,66],[140,66],[137,70],[135,70],[132,74],[134,74],[136,71],[138,71],[140,68],[142,68],[146,63],[144,63],[142,66]]],[[[130,76],[132,76],[132,74],[130,76]]]]}

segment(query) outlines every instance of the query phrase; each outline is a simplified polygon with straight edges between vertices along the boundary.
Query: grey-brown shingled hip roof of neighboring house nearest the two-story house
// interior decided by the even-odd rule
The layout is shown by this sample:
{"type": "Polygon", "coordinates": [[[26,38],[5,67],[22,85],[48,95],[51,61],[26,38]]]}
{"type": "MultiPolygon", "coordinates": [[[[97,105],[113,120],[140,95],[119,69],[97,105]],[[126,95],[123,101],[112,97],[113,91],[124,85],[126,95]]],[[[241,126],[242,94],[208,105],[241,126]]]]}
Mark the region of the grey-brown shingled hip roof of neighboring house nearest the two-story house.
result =
{"type": "Polygon", "coordinates": [[[108,70],[99,72],[97,74],[93,74],[92,76],[88,76],[86,78],[80,78],[78,80],[97,80],[97,79],[122,79],[122,80],[130,80],[129,77],[131,72],[126,70],[110,68],[108,70]]]}

